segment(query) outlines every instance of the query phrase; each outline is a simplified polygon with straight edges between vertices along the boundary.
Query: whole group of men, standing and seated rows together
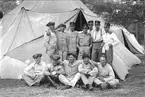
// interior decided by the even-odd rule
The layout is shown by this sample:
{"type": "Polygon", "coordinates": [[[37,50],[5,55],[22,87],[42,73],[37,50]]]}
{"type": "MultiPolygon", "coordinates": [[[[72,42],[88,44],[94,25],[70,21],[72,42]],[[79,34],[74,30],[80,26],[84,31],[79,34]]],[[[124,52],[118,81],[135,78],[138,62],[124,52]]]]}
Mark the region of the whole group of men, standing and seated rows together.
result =
{"type": "Polygon", "coordinates": [[[49,29],[44,34],[44,46],[51,62],[46,65],[41,61],[42,54],[33,55],[35,62],[24,70],[23,75],[29,86],[40,85],[46,79],[55,88],[58,83],[65,89],[81,86],[93,90],[93,84],[101,89],[116,87],[119,80],[115,78],[111,64],[112,48],[117,39],[109,30],[109,23],[105,23],[105,33],[100,29],[100,21],[95,21],[95,29],[93,21],[89,21],[81,32],[74,30],[74,22],[70,22],[68,32],[65,32],[64,24],[57,30],[54,22],[46,26],[49,29]]]}

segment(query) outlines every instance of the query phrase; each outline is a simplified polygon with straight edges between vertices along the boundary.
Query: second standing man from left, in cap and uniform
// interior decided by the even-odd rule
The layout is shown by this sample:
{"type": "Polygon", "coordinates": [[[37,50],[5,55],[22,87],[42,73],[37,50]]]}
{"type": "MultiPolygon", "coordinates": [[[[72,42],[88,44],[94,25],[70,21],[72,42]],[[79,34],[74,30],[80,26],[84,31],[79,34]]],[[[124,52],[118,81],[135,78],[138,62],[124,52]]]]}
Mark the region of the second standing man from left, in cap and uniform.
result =
{"type": "Polygon", "coordinates": [[[58,39],[58,53],[61,57],[61,60],[66,60],[67,51],[68,51],[68,35],[64,30],[66,29],[66,25],[60,24],[58,26],[59,30],[56,32],[58,39]]]}

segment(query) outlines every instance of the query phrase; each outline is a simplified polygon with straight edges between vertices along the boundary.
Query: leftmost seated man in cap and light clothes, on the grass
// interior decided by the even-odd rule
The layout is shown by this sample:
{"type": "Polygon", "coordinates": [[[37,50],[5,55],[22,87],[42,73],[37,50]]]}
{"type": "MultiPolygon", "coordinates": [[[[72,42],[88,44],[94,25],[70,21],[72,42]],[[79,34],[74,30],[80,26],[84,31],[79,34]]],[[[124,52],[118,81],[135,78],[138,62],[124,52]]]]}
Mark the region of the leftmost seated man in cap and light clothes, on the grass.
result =
{"type": "Polygon", "coordinates": [[[41,57],[40,53],[33,55],[35,62],[24,69],[22,77],[29,86],[40,85],[40,81],[44,77],[43,72],[46,64],[41,61],[41,57]]]}

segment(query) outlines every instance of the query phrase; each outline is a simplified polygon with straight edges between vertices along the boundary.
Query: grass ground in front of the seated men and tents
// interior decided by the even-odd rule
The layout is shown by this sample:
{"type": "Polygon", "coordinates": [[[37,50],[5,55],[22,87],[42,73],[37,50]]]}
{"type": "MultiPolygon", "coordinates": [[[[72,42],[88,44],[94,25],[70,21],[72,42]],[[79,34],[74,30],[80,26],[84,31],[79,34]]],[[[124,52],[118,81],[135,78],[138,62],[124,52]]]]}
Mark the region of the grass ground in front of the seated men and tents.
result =
{"type": "Polygon", "coordinates": [[[46,85],[28,87],[23,80],[0,80],[0,97],[145,97],[145,57],[134,66],[118,89],[85,91],[80,88],[56,90],[46,85]]]}

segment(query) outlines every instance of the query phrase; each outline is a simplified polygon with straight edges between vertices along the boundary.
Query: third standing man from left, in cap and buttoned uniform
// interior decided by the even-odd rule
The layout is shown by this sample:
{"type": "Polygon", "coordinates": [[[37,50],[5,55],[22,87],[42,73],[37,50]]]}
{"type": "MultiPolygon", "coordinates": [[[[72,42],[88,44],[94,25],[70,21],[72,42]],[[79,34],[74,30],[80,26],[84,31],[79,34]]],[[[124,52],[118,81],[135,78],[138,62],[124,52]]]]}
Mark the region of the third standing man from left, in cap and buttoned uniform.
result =
{"type": "Polygon", "coordinates": [[[74,31],[75,23],[70,22],[70,32],[68,33],[69,43],[68,43],[68,53],[73,53],[77,55],[77,36],[78,32],[74,31]]]}

